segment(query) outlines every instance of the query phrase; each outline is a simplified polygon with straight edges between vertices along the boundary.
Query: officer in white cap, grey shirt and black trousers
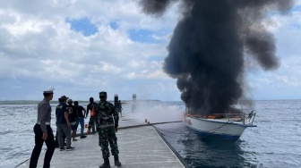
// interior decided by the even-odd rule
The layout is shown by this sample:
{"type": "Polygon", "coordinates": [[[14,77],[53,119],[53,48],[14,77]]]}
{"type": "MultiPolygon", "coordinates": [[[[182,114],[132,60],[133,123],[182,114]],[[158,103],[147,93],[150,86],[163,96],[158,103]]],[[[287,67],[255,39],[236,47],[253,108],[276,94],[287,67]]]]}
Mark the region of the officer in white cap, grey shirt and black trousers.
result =
{"type": "Polygon", "coordinates": [[[46,143],[47,151],[45,153],[43,167],[50,167],[50,161],[56,148],[54,135],[50,127],[51,106],[49,102],[53,98],[53,90],[55,90],[55,88],[44,90],[44,99],[40,101],[38,105],[38,119],[33,127],[35,133],[35,147],[33,148],[30,157],[30,168],[37,167],[39,154],[44,142],[46,143]]]}

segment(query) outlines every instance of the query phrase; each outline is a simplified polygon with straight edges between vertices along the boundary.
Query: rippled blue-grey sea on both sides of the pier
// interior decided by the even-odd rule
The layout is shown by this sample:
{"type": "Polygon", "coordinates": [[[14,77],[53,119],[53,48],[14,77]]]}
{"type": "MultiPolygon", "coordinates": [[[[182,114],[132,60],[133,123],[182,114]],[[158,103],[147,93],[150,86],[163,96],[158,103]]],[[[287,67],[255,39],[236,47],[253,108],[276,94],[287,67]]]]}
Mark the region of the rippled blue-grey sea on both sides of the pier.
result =
{"type": "MultiPolygon", "coordinates": [[[[173,109],[185,109],[182,102],[150,103],[157,106],[156,111],[163,109],[164,112],[159,112],[164,113],[162,116],[173,113],[173,109]]],[[[32,127],[37,120],[37,104],[9,104],[0,105],[1,168],[14,167],[29,159],[34,146],[32,127]]],[[[87,103],[80,105],[85,107],[87,103]]],[[[52,106],[55,108],[56,104],[52,106]]],[[[254,101],[253,108],[257,127],[247,128],[236,142],[202,139],[184,123],[156,125],[156,128],[192,168],[300,168],[301,100],[254,101]]],[[[130,112],[131,103],[125,104],[124,113],[130,112]]],[[[54,120],[54,111],[52,115],[54,120]]]]}

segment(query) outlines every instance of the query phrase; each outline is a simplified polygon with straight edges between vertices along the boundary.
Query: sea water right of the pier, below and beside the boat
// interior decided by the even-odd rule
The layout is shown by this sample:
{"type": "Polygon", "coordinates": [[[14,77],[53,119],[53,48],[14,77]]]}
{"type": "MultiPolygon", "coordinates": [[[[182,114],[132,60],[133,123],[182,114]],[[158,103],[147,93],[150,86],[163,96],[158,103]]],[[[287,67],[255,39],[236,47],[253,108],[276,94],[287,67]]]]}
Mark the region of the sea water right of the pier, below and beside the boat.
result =
{"type": "Polygon", "coordinates": [[[184,123],[156,126],[190,167],[300,168],[301,100],[254,101],[257,127],[236,142],[203,138],[184,123]]]}

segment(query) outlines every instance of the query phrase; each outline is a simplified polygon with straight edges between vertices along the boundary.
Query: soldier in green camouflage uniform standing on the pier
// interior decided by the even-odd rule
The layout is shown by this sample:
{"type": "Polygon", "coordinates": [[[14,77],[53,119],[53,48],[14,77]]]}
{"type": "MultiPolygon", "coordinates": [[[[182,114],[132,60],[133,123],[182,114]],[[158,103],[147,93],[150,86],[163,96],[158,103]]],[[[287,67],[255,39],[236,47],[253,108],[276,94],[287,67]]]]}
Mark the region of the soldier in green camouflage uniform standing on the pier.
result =
{"type": "Polygon", "coordinates": [[[111,153],[114,155],[116,166],[121,166],[118,158],[118,145],[116,131],[118,130],[119,116],[116,112],[115,106],[107,102],[107,92],[99,92],[99,104],[96,105],[98,131],[99,131],[99,146],[101,147],[104,164],[99,168],[111,167],[109,164],[109,150],[108,143],[111,147],[111,153]]]}

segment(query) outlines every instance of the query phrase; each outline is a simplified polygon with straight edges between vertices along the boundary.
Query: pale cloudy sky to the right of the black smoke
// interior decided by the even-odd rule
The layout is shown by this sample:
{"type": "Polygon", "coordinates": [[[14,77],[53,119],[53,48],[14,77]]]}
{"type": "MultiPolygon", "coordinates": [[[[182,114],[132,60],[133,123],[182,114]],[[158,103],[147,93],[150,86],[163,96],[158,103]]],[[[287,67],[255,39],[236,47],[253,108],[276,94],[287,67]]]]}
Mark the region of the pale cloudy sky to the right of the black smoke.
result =
{"type": "MultiPolygon", "coordinates": [[[[301,1],[296,1],[295,5],[300,8],[301,1]]],[[[248,74],[254,98],[300,98],[301,11],[298,9],[288,15],[272,15],[265,21],[265,26],[276,38],[280,67],[275,71],[253,71],[248,74]]]]}

